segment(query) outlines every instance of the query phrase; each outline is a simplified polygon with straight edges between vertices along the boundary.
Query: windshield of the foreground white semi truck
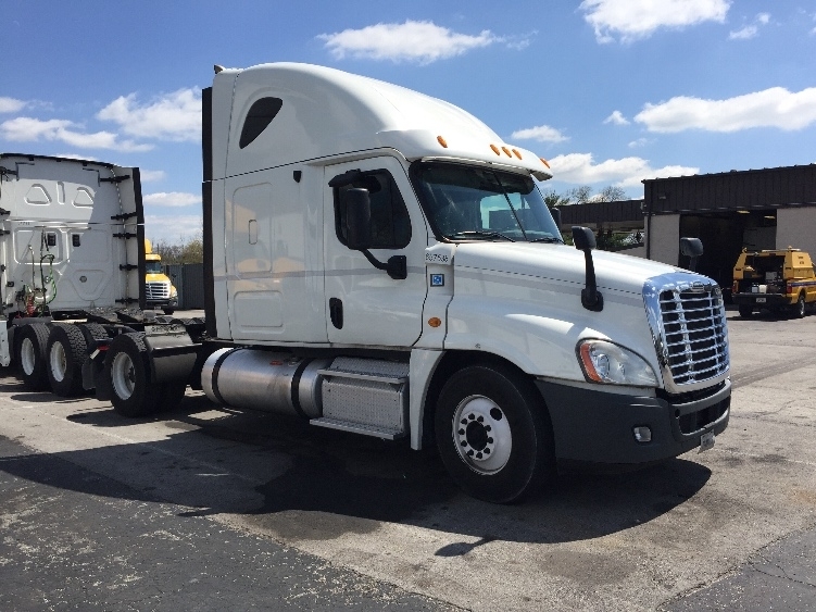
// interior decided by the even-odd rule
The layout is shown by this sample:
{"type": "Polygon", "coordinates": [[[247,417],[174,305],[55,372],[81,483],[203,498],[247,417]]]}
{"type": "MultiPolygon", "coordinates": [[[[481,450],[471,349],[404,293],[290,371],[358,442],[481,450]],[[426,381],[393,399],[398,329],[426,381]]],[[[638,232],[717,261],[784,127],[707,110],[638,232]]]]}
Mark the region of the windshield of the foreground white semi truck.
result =
{"type": "Polygon", "coordinates": [[[529,176],[440,162],[415,162],[411,175],[438,238],[563,242],[529,176]]]}

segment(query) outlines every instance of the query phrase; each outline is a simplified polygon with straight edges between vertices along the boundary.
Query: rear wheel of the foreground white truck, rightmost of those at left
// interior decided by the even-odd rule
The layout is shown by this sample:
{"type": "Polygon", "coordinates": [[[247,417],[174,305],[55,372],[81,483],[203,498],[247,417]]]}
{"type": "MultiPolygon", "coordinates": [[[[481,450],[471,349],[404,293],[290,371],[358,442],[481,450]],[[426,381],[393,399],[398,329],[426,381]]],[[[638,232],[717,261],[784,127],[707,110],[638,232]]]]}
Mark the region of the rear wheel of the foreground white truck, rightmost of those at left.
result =
{"type": "Polygon", "coordinates": [[[111,342],[104,371],[113,410],[123,416],[146,416],[160,408],[163,386],[150,379],[145,334],[121,334],[111,342]]]}

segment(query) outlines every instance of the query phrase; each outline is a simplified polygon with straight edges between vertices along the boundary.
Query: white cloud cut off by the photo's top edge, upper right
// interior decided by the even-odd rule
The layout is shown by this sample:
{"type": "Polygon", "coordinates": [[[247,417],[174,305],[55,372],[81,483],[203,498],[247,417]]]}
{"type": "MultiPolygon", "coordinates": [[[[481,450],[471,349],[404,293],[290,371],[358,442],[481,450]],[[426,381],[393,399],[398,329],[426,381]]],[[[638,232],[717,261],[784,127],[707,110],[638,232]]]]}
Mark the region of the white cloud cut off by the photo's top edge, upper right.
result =
{"type": "Polygon", "coordinates": [[[583,0],[583,18],[599,42],[650,37],[661,27],[679,29],[703,22],[723,23],[730,0],[583,0]]]}

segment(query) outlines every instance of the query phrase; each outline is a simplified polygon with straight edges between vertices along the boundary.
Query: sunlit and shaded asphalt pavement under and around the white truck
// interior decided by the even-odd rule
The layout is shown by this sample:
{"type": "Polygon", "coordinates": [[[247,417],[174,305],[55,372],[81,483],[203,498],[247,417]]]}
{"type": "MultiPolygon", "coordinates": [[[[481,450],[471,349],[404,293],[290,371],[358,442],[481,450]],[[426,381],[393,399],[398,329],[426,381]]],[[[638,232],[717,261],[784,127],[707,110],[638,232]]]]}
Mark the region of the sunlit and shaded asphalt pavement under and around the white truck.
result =
{"type": "Polygon", "coordinates": [[[512,507],[399,442],[0,371],[0,611],[816,610],[816,316],[729,334],[712,450],[512,507]]]}

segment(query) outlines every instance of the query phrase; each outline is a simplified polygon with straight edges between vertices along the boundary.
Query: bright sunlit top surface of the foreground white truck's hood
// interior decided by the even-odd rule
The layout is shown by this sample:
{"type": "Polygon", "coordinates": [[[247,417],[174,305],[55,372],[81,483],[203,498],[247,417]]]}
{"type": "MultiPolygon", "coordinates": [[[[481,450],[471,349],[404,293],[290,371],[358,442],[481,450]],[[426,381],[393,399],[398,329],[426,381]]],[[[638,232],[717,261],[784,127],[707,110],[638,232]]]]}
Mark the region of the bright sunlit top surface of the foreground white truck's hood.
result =
{"type": "MultiPolygon", "coordinates": [[[[699,276],[675,266],[650,260],[592,251],[599,289],[641,295],[648,278],[673,272],[699,276]]],[[[456,268],[503,272],[537,276],[555,282],[583,285],[583,252],[566,245],[545,242],[460,242],[453,257],[456,268]]]]}

